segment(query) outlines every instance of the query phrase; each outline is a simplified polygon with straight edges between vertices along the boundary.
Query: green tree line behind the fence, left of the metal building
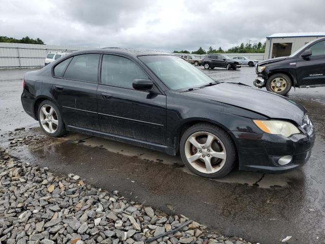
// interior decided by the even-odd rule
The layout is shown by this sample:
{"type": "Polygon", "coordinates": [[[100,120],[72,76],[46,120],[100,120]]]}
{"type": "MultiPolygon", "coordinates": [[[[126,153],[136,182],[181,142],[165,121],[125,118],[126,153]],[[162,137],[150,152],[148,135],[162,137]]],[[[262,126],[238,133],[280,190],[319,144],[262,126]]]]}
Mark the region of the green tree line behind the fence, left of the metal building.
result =
{"type": "Polygon", "coordinates": [[[258,43],[241,43],[239,46],[235,46],[229,48],[228,50],[223,50],[221,47],[218,49],[213,49],[212,46],[208,48],[208,50],[204,50],[200,47],[197,51],[189,52],[188,50],[180,50],[180,51],[173,51],[174,53],[192,53],[192,54],[207,54],[207,53],[248,53],[248,52],[265,52],[265,42],[262,44],[261,42],[258,43]]]}

